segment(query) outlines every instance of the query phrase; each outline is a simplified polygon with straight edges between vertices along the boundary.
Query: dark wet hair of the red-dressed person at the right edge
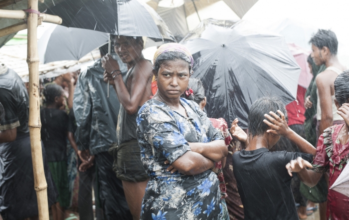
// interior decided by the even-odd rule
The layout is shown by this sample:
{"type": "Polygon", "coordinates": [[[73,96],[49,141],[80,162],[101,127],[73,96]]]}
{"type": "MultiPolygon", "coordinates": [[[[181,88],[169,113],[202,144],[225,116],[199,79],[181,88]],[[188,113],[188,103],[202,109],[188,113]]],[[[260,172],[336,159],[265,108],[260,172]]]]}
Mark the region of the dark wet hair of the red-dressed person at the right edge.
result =
{"type": "Polygon", "coordinates": [[[339,74],[335,80],[335,97],[340,106],[349,103],[349,70],[339,74]]]}

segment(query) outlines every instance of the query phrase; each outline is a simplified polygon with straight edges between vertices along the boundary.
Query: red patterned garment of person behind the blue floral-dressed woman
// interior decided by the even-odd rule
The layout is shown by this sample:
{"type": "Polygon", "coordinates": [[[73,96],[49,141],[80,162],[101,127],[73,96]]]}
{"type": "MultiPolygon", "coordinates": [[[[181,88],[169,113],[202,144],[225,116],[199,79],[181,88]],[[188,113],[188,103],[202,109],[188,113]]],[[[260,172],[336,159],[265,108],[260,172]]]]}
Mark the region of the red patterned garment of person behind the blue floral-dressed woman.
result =
{"type": "MultiPolygon", "coordinates": [[[[228,124],[226,123],[226,121],[223,118],[219,118],[219,119],[210,118],[209,120],[211,121],[212,126],[216,129],[218,129],[222,133],[224,140],[225,140],[225,144],[228,147],[230,141],[232,140],[232,137],[229,133],[228,124]]],[[[217,174],[217,177],[219,180],[220,195],[221,195],[221,198],[224,199],[227,197],[227,194],[226,194],[226,187],[225,187],[225,183],[224,183],[224,176],[223,176],[223,169],[222,169],[222,162],[221,161],[216,163],[216,166],[214,167],[213,172],[217,174]]]]}

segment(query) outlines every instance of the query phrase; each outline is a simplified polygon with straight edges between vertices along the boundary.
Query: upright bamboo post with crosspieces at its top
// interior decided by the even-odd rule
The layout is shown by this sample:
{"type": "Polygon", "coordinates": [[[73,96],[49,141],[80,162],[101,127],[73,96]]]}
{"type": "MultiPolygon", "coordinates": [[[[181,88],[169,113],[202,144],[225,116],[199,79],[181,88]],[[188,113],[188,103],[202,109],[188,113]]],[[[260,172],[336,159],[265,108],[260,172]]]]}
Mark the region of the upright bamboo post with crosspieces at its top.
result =
{"type": "MultiPolygon", "coordinates": [[[[13,0],[12,0],[13,1],[13,0]]],[[[14,2],[20,0],[14,0],[14,2]]],[[[39,0],[43,2],[44,0],[39,0]]],[[[9,0],[1,2],[3,5],[9,3],[9,0]]],[[[3,6],[2,5],[2,6],[3,6]]],[[[28,0],[28,9],[38,11],[38,0],[28,0]]],[[[61,24],[62,18],[50,14],[37,14],[24,12],[23,10],[3,10],[0,9],[1,18],[27,19],[27,22],[21,22],[0,29],[0,36],[4,36],[19,30],[28,29],[27,33],[27,63],[29,69],[29,135],[31,159],[34,173],[34,189],[37,197],[37,207],[39,220],[48,220],[48,200],[47,200],[47,182],[42,160],[41,150],[41,121],[40,121],[40,96],[39,96],[39,56],[37,50],[37,25],[42,21],[61,24]],[[1,35],[2,34],[2,35],[1,35]]]]}

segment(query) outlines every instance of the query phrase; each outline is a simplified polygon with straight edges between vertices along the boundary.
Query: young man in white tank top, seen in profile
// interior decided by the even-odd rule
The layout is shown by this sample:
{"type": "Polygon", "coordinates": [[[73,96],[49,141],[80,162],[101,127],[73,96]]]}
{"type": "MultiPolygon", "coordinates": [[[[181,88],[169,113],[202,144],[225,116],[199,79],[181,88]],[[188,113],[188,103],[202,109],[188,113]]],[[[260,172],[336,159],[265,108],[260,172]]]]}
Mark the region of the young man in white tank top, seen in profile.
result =
{"type": "Polygon", "coordinates": [[[337,76],[346,70],[337,57],[338,40],[331,30],[319,29],[309,41],[312,44],[312,57],[316,65],[326,65],[326,69],[316,77],[318,87],[317,120],[319,135],[334,124],[343,124],[343,118],[337,114],[334,102],[334,82],[337,76]]]}

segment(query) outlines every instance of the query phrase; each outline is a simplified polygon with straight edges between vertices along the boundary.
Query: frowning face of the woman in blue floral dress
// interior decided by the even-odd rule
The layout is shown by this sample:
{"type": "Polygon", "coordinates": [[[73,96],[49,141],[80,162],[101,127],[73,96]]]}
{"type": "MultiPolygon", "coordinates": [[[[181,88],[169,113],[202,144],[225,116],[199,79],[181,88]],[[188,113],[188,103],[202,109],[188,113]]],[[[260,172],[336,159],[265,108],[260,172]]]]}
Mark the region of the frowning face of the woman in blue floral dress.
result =
{"type": "Polygon", "coordinates": [[[181,59],[166,61],[160,65],[156,77],[160,95],[163,98],[177,99],[188,87],[188,63],[181,59]]]}

